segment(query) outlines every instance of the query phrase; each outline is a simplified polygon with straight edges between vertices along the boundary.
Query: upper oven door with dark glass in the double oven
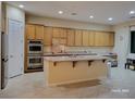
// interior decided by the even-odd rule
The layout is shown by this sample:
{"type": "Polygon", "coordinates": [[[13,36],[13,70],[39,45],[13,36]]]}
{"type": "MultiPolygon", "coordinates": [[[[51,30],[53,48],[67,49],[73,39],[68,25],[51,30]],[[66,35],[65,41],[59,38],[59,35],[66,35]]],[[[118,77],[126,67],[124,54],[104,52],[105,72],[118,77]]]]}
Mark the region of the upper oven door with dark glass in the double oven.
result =
{"type": "Polygon", "coordinates": [[[29,43],[28,53],[42,53],[42,45],[29,43]]]}

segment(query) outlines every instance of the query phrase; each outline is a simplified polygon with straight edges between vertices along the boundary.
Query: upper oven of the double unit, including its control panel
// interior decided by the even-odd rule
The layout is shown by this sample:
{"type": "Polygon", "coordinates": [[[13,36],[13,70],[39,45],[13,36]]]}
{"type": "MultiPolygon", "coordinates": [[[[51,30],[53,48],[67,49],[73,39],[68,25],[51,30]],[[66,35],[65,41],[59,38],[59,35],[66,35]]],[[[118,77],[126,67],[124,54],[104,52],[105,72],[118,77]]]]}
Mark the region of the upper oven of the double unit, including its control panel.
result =
{"type": "Polygon", "coordinates": [[[42,40],[28,40],[28,48],[27,51],[30,54],[41,54],[42,53],[42,40]]]}

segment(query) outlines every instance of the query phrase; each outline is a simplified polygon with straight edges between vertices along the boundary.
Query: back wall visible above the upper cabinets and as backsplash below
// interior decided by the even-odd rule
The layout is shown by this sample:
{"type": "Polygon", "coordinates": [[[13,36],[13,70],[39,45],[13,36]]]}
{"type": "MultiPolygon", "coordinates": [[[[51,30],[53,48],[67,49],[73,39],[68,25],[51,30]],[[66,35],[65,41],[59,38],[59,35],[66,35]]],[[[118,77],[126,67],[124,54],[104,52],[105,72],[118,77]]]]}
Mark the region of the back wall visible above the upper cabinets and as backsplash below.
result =
{"type": "MultiPolygon", "coordinates": [[[[94,23],[83,23],[83,22],[74,22],[68,20],[59,20],[59,18],[50,18],[50,17],[40,17],[35,15],[27,15],[26,23],[32,24],[41,24],[45,26],[57,26],[57,27],[68,27],[68,28],[78,28],[78,29],[91,29],[91,30],[112,30],[112,26],[102,25],[102,24],[94,24],[94,23]]],[[[94,52],[110,52],[112,48],[110,47],[69,47],[69,51],[74,50],[90,50],[94,52]]],[[[45,47],[45,52],[49,52],[50,48],[45,47]]]]}

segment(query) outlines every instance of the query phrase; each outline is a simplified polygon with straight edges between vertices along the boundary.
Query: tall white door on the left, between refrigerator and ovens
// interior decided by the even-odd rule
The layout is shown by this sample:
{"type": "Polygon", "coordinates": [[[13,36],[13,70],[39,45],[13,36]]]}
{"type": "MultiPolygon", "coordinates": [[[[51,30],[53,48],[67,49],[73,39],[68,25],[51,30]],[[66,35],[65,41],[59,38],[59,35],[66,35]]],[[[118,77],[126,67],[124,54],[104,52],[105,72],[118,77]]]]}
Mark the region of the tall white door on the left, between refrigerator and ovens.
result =
{"type": "Polygon", "coordinates": [[[8,20],[9,34],[9,78],[23,74],[24,34],[23,23],[8,20]]]}

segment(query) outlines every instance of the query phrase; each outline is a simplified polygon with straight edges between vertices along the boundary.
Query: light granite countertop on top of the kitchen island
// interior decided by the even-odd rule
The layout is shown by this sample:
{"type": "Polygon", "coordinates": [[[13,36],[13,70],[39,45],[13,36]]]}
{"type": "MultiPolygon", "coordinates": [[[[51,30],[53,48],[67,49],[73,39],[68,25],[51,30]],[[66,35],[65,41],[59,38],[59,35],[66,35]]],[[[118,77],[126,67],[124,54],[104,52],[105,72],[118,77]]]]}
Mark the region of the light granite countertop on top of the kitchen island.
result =
{"type": "Polygon", "coordinates": [[[109,58],[102,55],[64,55],[64,56],[45,56],[47,61],[90,61],[90,60],[108,60],[109,58]]]}

